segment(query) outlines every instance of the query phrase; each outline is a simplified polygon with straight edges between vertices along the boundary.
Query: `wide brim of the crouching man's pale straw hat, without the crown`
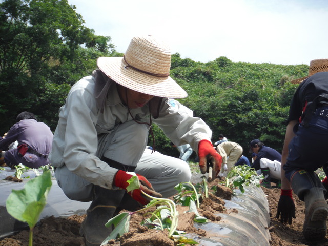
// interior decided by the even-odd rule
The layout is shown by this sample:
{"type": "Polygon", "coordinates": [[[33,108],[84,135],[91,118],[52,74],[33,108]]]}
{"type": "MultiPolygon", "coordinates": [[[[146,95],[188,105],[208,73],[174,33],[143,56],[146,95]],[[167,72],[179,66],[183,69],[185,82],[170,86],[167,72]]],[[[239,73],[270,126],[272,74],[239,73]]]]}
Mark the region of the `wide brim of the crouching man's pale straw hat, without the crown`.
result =
{"type": "Polygon", "coordinates": [[[99,57],[97,66],[117,84],[137,92],[165,98],[188,96],[170,76],[157,77],[126,67],[122,57],[99,57]]]}

